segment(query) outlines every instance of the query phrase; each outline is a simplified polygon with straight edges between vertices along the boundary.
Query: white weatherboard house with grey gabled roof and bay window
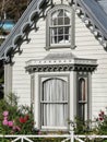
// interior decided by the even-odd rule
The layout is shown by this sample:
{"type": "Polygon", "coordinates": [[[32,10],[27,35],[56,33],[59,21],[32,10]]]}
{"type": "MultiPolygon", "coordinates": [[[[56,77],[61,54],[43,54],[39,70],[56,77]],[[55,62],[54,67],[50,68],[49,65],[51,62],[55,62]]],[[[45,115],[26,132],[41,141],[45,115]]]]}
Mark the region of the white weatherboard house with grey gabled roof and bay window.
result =
{"type": "Polygon", "coordinates": [[[4,93],[36,128],[68,130],[107,106],[107,0],[33,0],[0,47],[4,93]]]}

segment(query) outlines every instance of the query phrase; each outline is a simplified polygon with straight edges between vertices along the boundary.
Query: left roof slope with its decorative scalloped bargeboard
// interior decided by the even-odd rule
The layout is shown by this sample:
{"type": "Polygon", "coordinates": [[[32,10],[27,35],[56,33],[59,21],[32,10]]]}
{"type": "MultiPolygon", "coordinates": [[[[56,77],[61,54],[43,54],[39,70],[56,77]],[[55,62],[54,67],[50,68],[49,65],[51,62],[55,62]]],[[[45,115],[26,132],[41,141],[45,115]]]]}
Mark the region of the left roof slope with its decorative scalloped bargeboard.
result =
{"type": "MultiPolygon", "coordinates": [[[[7,39],[3,42],[3,44],[0,47],[0,59],[5,60],[7,62],[10,61],[9,54],[14,55],[14,51],[20,51],[20,46],[23,42],[29,40],[28,39],[28,33],[32,31],[36,23],[40,19],[40,14],[44,9],[48,5],[49,0],[33,0],[21,19],[15,24],[12,32],[9,34],[7,39]],[[43,9],[44,7],[44,9],[43,9]]],[[[12,55],[12,56],[13,56],[12,55]]]]}

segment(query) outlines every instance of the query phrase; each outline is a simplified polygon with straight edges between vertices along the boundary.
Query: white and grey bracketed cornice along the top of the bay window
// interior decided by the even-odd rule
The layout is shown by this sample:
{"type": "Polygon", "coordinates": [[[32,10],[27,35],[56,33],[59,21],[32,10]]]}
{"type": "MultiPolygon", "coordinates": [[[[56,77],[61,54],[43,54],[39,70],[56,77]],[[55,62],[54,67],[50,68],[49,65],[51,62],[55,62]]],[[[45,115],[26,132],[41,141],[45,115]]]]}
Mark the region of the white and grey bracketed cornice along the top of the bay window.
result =
{"type": "MultiPolygon", "coordinates": [[[[63,55],[62,55],[63,56],[63,55]]],[[[68,56],[68,54],[67,54],[68,56]]],[[[82,71],[93,72],[97,67],[95,59],[82,58],[60,58],[60,59],[35,59],[26,62],[26,71],[33,72],[62,72],[62,71],[82,71]]]]}

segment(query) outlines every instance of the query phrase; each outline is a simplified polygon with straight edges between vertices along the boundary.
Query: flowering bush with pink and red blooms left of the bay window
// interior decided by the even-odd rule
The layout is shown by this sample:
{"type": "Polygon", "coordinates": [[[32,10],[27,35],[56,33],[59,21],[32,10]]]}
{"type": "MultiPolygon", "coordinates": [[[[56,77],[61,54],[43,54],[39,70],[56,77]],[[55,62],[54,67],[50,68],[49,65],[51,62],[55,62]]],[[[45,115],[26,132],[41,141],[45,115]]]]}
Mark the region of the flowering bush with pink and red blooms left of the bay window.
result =
{"type": "Polygon", "coordinates": [[[14,94],[0,100],[1,134],[32,134],[33,128],[34,116],[31,107],[17,106],[17,98],[14,94]]]}

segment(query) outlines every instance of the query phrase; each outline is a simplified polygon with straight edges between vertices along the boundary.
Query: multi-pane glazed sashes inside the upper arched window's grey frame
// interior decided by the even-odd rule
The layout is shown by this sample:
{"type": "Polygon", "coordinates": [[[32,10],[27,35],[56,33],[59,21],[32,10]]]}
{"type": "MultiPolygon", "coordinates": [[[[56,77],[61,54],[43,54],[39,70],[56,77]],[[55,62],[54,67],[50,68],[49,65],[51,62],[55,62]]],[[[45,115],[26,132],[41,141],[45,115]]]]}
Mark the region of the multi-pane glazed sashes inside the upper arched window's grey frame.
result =
{"type": "Polygon", "coordinates": [[[51,14],[50,44],[70,43],[71,33],[70,12],[60,9],[51,14]]]}

